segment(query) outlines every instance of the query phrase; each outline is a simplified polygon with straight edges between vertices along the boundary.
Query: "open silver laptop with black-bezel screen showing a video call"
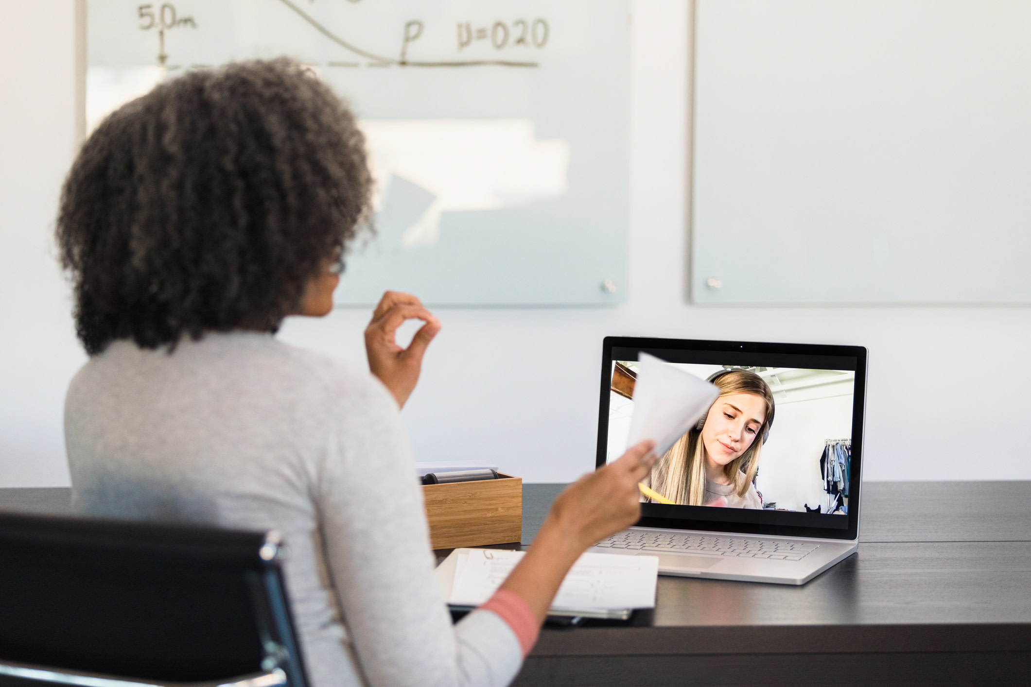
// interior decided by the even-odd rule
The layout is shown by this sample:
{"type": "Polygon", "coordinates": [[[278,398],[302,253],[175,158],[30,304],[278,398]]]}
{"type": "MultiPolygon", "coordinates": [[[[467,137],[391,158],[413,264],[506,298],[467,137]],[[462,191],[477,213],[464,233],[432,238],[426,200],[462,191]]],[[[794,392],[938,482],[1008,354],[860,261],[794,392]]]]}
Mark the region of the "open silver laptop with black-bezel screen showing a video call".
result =
{"type": "Polygon", "coordinates": [[[856,552],[866,348],[606,337],[599,468],[627,448],[642,352],[721,396],[660,456],[637,524],[590,551],[657,555],[660,575],[796,585],[856,552]]]}

